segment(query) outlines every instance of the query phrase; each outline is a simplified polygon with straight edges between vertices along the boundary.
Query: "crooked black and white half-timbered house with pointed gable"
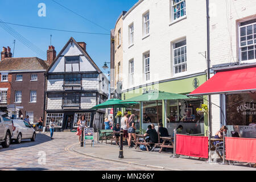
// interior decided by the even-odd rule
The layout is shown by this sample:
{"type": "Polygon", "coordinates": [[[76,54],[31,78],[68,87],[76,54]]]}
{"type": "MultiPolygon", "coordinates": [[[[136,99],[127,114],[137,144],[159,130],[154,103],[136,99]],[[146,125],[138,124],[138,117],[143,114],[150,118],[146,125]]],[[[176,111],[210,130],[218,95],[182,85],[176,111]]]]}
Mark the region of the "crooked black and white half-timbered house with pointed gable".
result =
{"type": "Polygon", "coordinates": [[[86,44],[70,38],[46,72],[46,126],[53,118],[62,130],[76,129],[84,114],[89,127],[102,129],[105,109],[90,108],[108,100],[108,90],[86,44]]]}

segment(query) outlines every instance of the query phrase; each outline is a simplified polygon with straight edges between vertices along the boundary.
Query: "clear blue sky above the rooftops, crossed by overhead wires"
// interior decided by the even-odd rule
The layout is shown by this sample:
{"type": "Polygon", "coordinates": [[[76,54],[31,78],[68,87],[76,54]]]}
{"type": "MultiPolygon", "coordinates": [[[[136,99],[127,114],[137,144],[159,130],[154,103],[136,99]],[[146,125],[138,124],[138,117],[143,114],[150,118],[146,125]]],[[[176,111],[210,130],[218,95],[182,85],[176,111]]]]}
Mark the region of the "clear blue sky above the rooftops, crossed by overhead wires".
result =
{"type": "MultiPolygon", "coordinates": [[[[0,19],[4,22],[24,24],[36,27],[56,28],[82,32],[110,34],[121,12],[129,10],[138,0],[55,0],[86,19],[99,24],[108,31],[57,5],[52,0],[0,0],[0,19]],[[46,17],[38,16],[39,3],[46,4],[46,17]]],[[[45,52],[44,57],[24,46],[18,39],[0,27],[0,48],[9,46],[13,52],[13,40],[16,39],[14,57],[39,57],[46,60],[46,51],[52,35],[52,45],[57,54],[71,36],[77,42],[85,42],[86,50],[98,67],[110,60],[110,35],[89,35],[71,32],[40,30],[9,24],[11,28],[45,52]]],[[[102,69],[102,68],[101,68],[102,69]]],[[[104,71],[102,69],[102,71],[104,71]]],[[[106,72],[106,71],[104,71],[106,72]]]]}

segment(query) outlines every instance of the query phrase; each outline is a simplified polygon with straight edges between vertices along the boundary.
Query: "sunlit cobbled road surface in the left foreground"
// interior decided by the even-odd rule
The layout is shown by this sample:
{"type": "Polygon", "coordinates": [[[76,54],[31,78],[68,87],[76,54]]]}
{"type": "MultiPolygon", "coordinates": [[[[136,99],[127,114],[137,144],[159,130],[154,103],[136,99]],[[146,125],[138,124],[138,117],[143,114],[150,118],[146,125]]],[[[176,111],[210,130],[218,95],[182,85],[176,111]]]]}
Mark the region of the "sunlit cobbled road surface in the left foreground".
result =
{"type": "Polygon", "coordinates": [[[79,143],[75,133],[55,132],[53,138],[43,133],[36,135],[35,142],[23,140],[9,148],[0,146],[0,170],[152,170],[77,154],[68,147],[79,143]]]}

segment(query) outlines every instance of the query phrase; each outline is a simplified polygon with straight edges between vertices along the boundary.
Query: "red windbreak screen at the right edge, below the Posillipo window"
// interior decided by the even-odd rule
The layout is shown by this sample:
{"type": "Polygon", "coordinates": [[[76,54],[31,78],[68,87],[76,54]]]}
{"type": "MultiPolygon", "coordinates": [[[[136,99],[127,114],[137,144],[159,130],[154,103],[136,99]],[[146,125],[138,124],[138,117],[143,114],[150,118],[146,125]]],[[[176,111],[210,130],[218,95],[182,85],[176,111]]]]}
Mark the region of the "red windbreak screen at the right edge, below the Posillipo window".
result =
{"type": "Polygon", "coordinates": [[[256,163],[255,138],[225,138],[226,160],[256,163]]]}

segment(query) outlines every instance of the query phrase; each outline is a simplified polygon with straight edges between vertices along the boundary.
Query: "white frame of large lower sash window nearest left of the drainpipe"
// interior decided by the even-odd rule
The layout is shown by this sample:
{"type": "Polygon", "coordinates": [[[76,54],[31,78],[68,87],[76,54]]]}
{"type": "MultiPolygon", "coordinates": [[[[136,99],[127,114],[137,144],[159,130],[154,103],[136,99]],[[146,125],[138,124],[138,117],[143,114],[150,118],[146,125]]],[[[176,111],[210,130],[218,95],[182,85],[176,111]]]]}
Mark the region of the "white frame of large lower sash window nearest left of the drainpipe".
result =
{"type": "Polygon", "coordinates": [[[173,53],[173,55],[172,55],[172,63],[173,63],[173,69],[174,69],[173,73],[174,73],[175,76],[184,75],[184,73],[187,73],[187,41],[186,41],[186,44],[184,46],[175,47],[176,43],[182,42],[184,40],[187,40],[187,39],[183,38],[183,39],[177,40],[177,41],[172,43],[172,53],[173,53]],[[184,53],[181,55],[182,48],[183,48],[184,53]],[[178,52],[178,50],[180,50],[180,63],[177,63],[178,59],[179,59],[179,56],[177,54],[175,56],[175,51],[178,52]],[[183,62],[181,62],[182,61],[182,57],[184,59],[183,62]],[[176,59],[176,64],[175,64],[175,59],[176,59]],[[185,71],[182,71],[183,65],[185,67],[185,71]],[[179,71],[179,66],[181,66],[181,72],[175,73],[175,68],[178,67],[177,69],[179,71]]]}

